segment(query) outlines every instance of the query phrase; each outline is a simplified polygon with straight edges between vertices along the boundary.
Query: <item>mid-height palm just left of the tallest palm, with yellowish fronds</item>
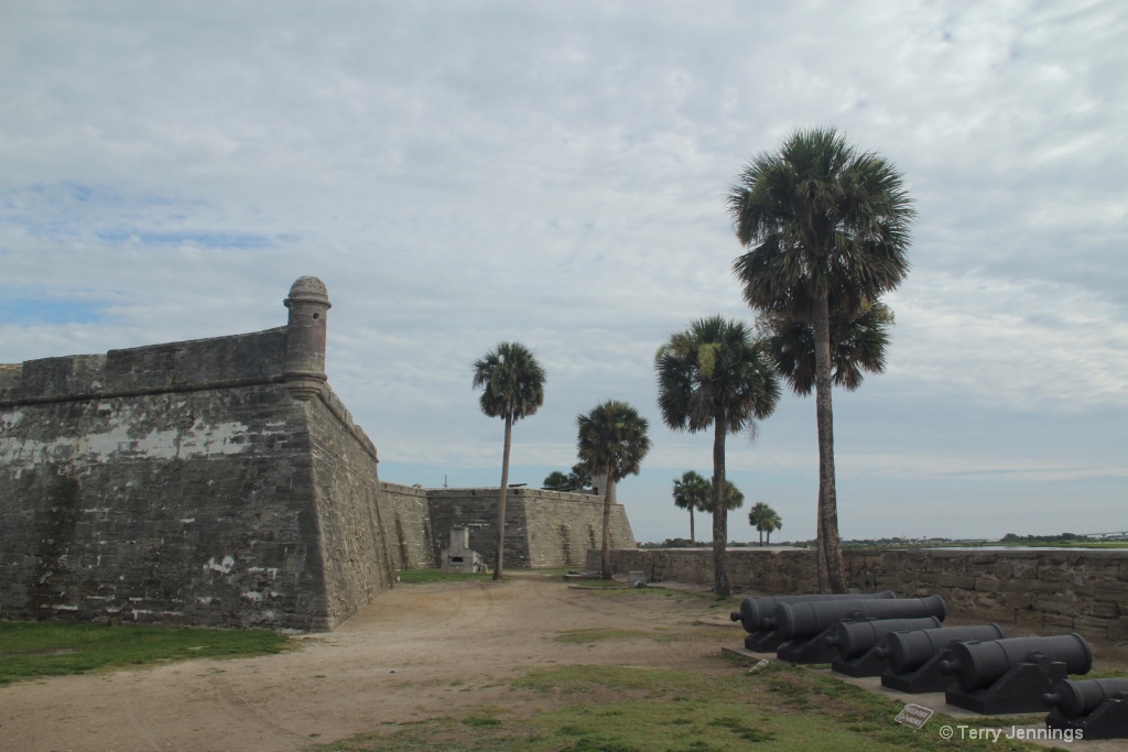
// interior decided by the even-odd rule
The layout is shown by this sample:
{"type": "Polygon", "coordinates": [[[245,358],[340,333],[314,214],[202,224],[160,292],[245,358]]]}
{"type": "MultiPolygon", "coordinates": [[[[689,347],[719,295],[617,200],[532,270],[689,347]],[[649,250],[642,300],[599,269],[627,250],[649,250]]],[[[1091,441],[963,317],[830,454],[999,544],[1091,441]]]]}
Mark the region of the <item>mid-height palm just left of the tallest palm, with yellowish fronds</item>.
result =
{"type": "Polygon", "coordinates": [[[724,440],[772,415],[779,380],[765,344],[748,327],[720,316],[693,322],[672,335],[654,356],[662,419],[676,431],[713,426],[713,575],[716,594],[731,595],[725,570],[729,517],[724,440]]]}

